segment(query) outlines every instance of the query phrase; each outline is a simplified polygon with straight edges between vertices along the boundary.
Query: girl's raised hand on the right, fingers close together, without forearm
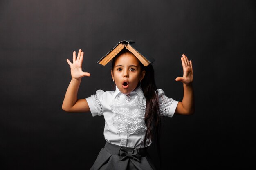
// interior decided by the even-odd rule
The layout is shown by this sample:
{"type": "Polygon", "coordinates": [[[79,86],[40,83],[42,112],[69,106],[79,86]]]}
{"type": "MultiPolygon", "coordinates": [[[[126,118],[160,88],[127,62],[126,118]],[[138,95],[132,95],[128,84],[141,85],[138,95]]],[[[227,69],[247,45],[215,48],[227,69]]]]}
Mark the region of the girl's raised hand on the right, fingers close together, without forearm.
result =
{"type": "Polygon", "coordinates": [[[183,77],[177,77],[175,80],[180,81],[186,85],[191,85],[193,82],[193,68],[192,61],[182,54],[181,57],[182,67],[183,67],[183,77]]]}

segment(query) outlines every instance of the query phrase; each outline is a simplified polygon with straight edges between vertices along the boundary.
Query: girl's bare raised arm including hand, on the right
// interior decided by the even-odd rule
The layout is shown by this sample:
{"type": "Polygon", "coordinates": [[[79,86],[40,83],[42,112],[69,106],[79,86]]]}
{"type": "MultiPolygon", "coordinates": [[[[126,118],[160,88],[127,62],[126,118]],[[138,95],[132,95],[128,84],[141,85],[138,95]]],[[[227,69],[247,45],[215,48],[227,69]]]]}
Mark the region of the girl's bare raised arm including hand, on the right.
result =
{"type": "Polygon", "coordinates": [[[177,77],[176,81],[183,83],[184,95],[182,102],[179,102],[175,110],[176,114],[192,115],[195,112],[194,91],[193,91],[193,68],[192,61],[182,55],[183,77],[177,77]]]}

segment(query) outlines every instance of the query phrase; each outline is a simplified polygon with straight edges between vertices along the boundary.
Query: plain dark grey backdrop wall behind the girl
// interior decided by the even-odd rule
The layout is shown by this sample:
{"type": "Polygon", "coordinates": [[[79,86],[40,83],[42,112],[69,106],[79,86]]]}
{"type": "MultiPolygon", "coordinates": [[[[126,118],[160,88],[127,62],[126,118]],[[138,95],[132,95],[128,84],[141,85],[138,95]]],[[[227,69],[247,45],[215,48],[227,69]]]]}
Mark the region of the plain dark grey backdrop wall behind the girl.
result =
{"type": "MultiPolygon", "coordinates": [[[[78,98],[112,90],[121,40],[156,61],[157,87],[182,100],[180,57],[193,62],[194,115],[165,117],[161,170],[256,166],[253,0],[0,0],[0,169],[87,170],[105,144],[104,118],[66,113],[72,52],[85,53],[78,98]]],[[[154,146],[154,145],[153,145],[154,146]]],[[[159,168],[159,158],[150,148],[159,168]]]]}

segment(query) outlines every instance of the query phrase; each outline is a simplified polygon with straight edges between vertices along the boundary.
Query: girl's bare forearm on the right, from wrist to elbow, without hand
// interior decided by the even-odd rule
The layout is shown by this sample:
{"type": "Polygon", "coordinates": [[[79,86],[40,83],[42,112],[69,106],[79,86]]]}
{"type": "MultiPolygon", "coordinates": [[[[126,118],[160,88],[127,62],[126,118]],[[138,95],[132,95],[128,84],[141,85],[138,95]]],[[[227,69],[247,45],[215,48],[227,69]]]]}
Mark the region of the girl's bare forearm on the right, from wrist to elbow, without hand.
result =
{"type": "Polygon", "coordinates": [[[186,113],[188,115],[191,115],[195,111],[193,86],[192,84],[191,85],[183,84],[183,88],[184,88],[184,95],[182,99],[182,106],[186,111],[186,113]]]}

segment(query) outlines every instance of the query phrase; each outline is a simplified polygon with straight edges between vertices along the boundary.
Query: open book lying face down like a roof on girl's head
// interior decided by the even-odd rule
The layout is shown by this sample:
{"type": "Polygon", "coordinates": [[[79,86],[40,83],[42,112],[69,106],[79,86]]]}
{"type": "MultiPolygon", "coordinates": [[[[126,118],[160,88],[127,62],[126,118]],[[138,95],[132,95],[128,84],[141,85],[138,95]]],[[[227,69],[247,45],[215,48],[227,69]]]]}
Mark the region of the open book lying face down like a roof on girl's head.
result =
{"type": "Polygon", "coordinates": [[[155,59],[150,57],[145,51],[141,53],[141,49],[137,44],[135,44],[135,41],[122,40],[112,50],[104,55],[97,63],[105,66],[124,48],[132,52],[144,66],[148,66],[148,64],[155,61],[155,59]]]}

